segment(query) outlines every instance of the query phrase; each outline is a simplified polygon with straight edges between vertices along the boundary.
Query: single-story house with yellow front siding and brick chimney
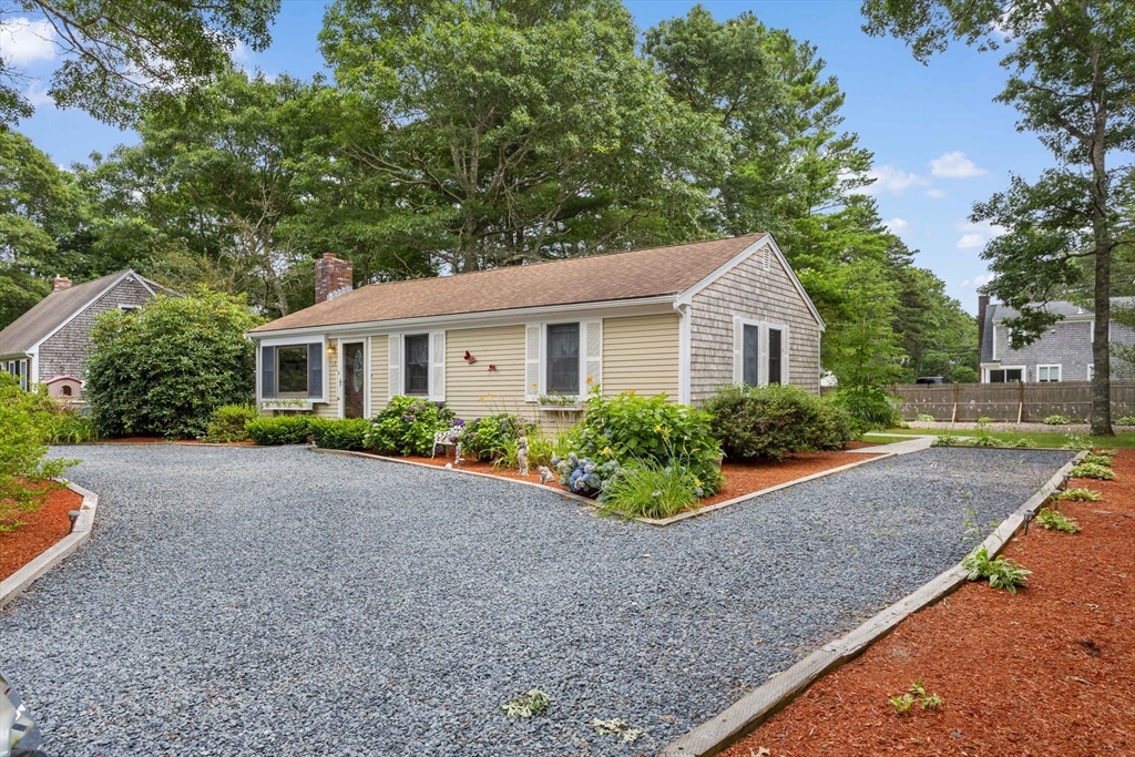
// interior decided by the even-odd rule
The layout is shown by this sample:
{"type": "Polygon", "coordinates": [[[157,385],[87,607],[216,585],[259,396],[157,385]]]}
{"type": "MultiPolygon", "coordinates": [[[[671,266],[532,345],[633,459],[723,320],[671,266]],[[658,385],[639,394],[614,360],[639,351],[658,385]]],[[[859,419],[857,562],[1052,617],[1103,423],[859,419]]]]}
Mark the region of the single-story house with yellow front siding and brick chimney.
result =
{"type": "Polygon", "coordinates": [[[819,390],[824,322],[772,236],[352,288],[317,262],[317,303],[253,329],[266,412],[371,417],[397,395],[465,419],[548,424],[589,385],[696,403],[729,384],[819,390]]]}

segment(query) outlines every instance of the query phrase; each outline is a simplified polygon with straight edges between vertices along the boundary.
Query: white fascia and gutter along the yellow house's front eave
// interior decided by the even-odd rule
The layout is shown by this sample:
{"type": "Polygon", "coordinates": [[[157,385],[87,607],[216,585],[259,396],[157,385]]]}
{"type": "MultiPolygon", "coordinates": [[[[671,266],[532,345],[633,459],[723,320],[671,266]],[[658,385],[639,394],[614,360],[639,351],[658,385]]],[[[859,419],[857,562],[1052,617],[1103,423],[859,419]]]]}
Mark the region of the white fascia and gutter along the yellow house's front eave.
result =
{"type": "Polygon", "coordinates": [[[335,326],[310,326],[306,328],[284,329],[279,331],[257,331],[246,336],[271,344],[276,338],[295,338],[293,344],[304,340],[306,335],[335,335],[338,338],[352,336],[365,337],[387,333],[440,331],[455,327],[486,328],[493,326],[521,326],[537,321],[585,320],[594,318],[629,318],[632,316],[656,316],[673,312],[676,295],[665,294],[655,297],[638,297],[636,300],[609,300],[605,302],[573,303],[568,305],[549,305],[546,308],[515,308],[488,313],[456,313],[453,316],[430,316],[427,318],[404,318],[389,321],[367,321],[360,323],[338,323],[335,326]]]}

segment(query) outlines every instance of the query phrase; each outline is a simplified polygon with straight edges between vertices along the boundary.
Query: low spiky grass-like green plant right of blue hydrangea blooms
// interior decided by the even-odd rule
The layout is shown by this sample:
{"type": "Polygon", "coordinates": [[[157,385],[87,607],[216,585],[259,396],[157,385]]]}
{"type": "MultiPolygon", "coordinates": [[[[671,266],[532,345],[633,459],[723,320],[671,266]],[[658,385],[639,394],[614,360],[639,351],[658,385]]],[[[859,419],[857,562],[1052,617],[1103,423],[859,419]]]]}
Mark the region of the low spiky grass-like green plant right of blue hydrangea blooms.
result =
{"type": "Polygon", "coordinates": [[[642,461],[621,466],[606,482],[599,510],[623,518],[672,518],[697,502],[699,491],[689,471],[642,461]]]}

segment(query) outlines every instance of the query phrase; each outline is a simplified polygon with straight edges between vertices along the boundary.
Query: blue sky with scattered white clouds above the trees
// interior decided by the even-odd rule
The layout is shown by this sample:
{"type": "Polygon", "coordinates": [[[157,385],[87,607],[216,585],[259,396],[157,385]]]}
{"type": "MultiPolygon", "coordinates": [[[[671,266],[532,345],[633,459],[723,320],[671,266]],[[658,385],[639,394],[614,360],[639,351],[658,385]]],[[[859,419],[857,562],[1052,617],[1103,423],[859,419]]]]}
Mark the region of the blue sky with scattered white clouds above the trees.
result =
{"type": "MultiPolygon", "coordinates": [[[[647,28],[663,18],[684,15],[695,2],[627,5],[639,27],[647,28]]],[[[718,19],[751,10],[770,26],[788,28],[797,39],[818,47],[827,72],[847,93],[846,128],[858,133],[860,144],[875,153],[878,180],[871,192],[883,218],[911,249],[920,251],[918,264],[938,274],[966,310],[976,311],[975,288],[987,276],[980,253],[995,229],[968,224],[970,205],[1006,187],[1010,171],[1032,179],[1049,162],[1035,137],[1016,131],[1016,111],[992,101],[1004,82],[997,56],[955,45],[923,66],[900,41],[869,37],[860,31],[858,0],[708,0],[703,5],[718,19]]],[[[271,47],[254,54],[239,50],[239,62],[268,74],[287,72],[300,77],[326,70],[316,40],[323,6],[322,0],[284,0],[271,47]]],[[[5,19],[7,30],[14,20],[19,18],[5,19]]],[[[59,60],[35,31],[24,27],[17,36],[0,33],[5,57],[17,56],[17,64],[42,79],[28,85],[36,113],[19,131],[61,165],[133,142],[133,133],[77,110],[58,110],[42,95],[59,60]]]]}

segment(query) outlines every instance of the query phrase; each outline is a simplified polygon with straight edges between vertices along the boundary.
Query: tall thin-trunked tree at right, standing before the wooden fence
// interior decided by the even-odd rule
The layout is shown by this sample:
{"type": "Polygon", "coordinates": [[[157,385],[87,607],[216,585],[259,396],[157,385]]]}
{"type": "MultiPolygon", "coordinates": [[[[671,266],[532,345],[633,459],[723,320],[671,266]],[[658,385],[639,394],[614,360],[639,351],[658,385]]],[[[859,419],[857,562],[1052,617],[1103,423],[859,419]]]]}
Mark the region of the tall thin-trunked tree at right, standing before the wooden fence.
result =
{"type": "Polygon", "coordinates": [[[1034,184],[974,207],[974,220],[1008,229],[983,256],[998,275],[985,291],[1020,311],[1015,346],[1039,338],[1056,318],[1043,304],[1062,296],[1082,266],[1093,270],[1095,365],[1092,432],[1110,435],[1111,360],[1108,328],[1111,261],[1124,238],[1121,188],[1135,149],[1135,6],[1116,0],[865,0],[865,31],[892,34],[925,61],[951,40],[1007,50],[1000,102],[1022,113],[1056,166],[1034,184]]]}

